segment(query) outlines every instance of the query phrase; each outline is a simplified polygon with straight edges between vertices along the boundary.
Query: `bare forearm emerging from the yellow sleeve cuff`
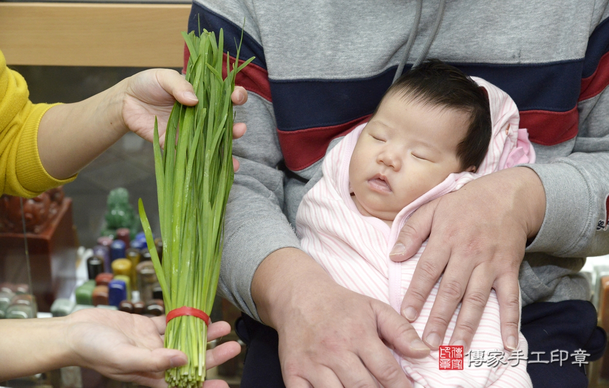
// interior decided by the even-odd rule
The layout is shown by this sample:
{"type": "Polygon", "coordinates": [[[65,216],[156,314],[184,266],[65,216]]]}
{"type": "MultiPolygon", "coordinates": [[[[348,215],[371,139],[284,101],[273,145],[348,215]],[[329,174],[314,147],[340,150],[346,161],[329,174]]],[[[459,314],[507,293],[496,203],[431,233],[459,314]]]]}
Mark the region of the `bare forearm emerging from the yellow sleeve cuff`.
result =
{"type": "Polygon", "coordinates": [[[71,177],[127,133],[119,93],[124,83],[44,114],[38,127],[38,153],[49,175],[71,177]]]}

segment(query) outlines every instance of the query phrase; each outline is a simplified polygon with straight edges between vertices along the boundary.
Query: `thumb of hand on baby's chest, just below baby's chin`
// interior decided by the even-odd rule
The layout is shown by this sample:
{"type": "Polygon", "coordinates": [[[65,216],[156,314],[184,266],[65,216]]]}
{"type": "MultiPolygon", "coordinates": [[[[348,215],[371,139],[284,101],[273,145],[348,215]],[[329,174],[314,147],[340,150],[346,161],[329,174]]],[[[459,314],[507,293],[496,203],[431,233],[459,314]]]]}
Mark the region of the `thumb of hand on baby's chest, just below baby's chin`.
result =
{"type": "Polygon", "coordinates": [[[400,234],[389,253],[389,258],[393,261],[404,261],[412,257],[421,248],[429,232],[434,218],[435,206],[438,200],[432,200],[418,208],[406,221],[400,234]]]}

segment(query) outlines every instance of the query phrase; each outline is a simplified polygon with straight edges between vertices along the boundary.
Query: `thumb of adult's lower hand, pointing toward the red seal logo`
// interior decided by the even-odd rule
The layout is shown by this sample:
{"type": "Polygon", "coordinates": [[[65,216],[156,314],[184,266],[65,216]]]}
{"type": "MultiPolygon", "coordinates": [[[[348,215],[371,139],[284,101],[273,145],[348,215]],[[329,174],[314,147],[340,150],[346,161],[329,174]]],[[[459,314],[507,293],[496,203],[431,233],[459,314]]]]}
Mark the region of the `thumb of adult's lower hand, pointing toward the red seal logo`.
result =
{"type": "Polygon", "coordinates": [[[374,300],[371,303],[382,339],[389,342],[398,353],[404,356],[412,358],[428,356],[429,348],[423,344],[410,322],[385,303],[374,300]]]}

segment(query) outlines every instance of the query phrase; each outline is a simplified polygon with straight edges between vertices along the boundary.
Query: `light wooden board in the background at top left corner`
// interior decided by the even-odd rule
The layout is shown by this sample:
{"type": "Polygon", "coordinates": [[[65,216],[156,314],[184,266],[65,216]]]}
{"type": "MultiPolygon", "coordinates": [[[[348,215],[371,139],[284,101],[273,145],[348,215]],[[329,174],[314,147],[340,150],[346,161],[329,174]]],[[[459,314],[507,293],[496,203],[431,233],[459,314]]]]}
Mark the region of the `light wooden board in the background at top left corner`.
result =
{"type": "Polygon", "coordinates": [[[0,50],[8,65],[181,68],[182,2],[0,2],[0,50]]]}

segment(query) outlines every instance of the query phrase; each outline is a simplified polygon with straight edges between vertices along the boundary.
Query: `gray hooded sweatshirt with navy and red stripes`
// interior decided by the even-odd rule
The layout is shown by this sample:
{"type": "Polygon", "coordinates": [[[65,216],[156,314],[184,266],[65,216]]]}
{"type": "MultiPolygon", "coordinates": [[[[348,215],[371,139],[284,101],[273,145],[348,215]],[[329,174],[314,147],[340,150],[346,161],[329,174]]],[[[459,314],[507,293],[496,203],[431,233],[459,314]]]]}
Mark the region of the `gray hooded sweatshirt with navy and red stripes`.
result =
{"type": "MultiPolygon", "coordinates": [[[[537,153],[530,165],[546,192],[546,214],[526,249],[523,305],[588,299],[577,272],[609,253],[608,0],[448,1],[428,57],[479,76],[512,96],[537,153]]],[[[219,291],[258,319],[251,283],[261,261],[299,248],[294,219],[321,161],[365,121],[389,87],[415,17],[402,0],[195,0],[189,30],[224,29],[256,60],[237,83],[247,104],[236,121],[241,163],[231,190],[219,291]],[[245,19],[245,24],[244,24],[245,19]]],[[[423,5],[406,70],[438,15],[423,5]]],[[[228,54],[235,49],[226,44],[228,54]]]]}

